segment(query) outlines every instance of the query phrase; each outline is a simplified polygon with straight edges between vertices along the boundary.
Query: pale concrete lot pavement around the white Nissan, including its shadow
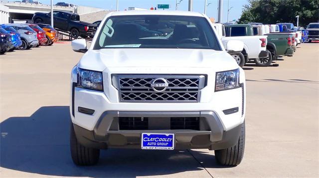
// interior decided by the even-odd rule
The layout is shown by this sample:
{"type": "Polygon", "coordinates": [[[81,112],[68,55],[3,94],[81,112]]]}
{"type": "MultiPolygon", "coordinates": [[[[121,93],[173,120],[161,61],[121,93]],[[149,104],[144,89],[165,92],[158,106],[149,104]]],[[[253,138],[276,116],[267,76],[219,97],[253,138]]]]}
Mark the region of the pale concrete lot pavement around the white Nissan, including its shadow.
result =
{"type": "Polygon", "coordinates": [[[214,152],[109,149],[76,167],[69,149],[70,71],[83,53],[69,42],[0,56],[0,177],[319,177],[319,43],[298,46],[279,67],[244,67],[242,163],[214,152]]]}

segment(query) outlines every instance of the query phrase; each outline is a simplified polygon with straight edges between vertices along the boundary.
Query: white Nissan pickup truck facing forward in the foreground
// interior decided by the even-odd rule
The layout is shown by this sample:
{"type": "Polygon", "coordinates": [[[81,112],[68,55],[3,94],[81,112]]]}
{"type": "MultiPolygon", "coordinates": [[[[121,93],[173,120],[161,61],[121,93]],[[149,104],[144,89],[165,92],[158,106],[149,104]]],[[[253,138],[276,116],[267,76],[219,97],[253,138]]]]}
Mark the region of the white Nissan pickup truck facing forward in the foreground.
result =
{"type": "Polygon", "coordinates": [[[245,74],[209,18],[198,12],[110,12],[71,72],[70,147],[76,165],[100,149],[209,149],[240,164],[245,144],[245,74]],[[156,32],[156,33],[155,33],[156,32]],[[160,34],[160,35],[159,35],[160,34]]]}

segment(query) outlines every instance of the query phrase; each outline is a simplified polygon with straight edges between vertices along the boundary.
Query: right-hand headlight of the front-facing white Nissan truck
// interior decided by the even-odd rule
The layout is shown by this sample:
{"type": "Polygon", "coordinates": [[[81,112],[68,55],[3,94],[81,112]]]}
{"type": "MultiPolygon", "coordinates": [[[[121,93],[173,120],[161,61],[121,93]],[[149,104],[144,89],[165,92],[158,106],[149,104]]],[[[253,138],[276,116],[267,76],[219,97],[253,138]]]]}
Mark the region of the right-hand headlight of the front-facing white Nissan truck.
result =
{"type": "Polygon", "coordinates": [[[239,69],[216,73],[215,91],[239,87],[239,69]]]}

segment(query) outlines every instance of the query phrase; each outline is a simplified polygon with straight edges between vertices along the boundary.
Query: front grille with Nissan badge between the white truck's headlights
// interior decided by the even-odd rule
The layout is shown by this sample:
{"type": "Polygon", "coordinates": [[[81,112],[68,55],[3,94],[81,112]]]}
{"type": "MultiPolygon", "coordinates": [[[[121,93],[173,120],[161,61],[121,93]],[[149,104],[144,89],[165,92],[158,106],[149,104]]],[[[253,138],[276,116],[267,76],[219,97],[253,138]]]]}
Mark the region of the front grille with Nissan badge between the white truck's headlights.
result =
{"type": "Polygon", "coordinates": [[[204,75],[113,75],[120,102],[199,102],[204,75]],[[164,85],[164,86],[156,86],[164,85]]]}

